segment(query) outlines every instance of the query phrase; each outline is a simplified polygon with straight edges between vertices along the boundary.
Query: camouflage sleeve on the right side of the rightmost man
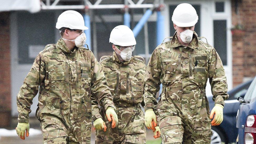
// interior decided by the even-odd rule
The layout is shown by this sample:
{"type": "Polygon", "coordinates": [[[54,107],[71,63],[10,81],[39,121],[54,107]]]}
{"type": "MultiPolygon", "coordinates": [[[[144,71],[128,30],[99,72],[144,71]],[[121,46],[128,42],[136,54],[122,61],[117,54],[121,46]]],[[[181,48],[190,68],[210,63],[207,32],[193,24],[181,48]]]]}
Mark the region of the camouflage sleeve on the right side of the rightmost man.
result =
{"type": "Polygon", "coordinates": [[[211,49],[208,62],[209,82],[215,104],[222,104],[228,98],[227,77],[220,56],[214,48],[211,49]]]}

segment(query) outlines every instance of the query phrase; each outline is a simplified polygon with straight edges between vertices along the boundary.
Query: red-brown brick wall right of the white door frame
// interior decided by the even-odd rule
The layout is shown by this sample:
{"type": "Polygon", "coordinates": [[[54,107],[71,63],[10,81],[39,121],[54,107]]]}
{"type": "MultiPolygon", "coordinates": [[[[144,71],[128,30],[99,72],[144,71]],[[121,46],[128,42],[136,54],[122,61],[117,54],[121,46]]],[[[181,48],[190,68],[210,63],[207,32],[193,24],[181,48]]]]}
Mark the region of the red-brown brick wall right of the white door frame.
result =
{"type": "Polygon", "coordinates": [[[256,75],[256,0],[232,0],[232,24],[241,23],[244,33],[232,36],[233,46],[233,86],[243,82],[245,77],[256,75]],[[239,20],[240,16],[240,20],[239,20]]]}

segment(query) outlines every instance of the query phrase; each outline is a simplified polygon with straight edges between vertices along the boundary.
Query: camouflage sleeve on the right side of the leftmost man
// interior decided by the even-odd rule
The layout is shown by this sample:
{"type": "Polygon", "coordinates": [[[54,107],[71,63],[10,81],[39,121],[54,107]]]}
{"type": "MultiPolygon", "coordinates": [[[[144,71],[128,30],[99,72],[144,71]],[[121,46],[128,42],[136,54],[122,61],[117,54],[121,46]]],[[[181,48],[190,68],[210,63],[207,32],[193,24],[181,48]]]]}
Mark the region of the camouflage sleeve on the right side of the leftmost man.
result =
{"type": "Polygon", "coordinates": [[[92,74],[92,85],[91,85],[91,94],[92,97],[97,99],[97,102],[100,106],[105,108],[108,107],[115,108],[113,103],[113,98],[110,93],[109,87],[107,86],[106,78],[100,67],[95,56],[91,52],[91,74],[92,74]]]}

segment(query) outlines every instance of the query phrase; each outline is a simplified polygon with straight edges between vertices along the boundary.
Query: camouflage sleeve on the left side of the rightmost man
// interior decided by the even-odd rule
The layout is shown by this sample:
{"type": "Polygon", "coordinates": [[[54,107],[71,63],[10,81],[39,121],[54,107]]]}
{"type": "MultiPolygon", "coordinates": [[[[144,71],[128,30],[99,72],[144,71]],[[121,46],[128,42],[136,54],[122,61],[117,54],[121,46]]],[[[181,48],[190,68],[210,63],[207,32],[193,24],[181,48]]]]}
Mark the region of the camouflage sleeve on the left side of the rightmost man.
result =
{"type": "Polygon", "coordinates": [[[157,105],[156,101],[156,93],[160,89],[160,76],[162,73],[160,58],[158,55],[158,49],[156,48],[148,62],[146,73],[145,73],[145,89],[144,89],[144,109],[145,111],[148,109],[155,109],[157,105]]]}

